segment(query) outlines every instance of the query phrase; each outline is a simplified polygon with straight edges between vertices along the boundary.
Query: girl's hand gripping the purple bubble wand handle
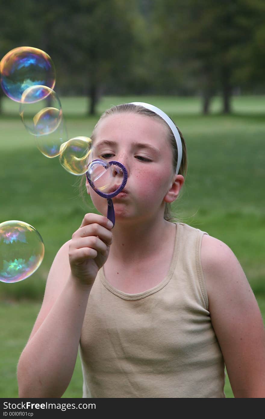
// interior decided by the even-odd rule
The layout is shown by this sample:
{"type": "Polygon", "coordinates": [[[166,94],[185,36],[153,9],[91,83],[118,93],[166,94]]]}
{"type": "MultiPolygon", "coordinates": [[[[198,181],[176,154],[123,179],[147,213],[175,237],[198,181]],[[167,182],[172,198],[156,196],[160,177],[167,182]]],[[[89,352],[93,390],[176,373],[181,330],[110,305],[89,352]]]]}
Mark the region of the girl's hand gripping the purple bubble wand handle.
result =
{"type": "Polygon", "coordinates": [[[113,224],[103,215],[86,214],[69,244],[69,264],[74,278],[93,285],[98,270],[105,264],[112,242],[113,224]]]}

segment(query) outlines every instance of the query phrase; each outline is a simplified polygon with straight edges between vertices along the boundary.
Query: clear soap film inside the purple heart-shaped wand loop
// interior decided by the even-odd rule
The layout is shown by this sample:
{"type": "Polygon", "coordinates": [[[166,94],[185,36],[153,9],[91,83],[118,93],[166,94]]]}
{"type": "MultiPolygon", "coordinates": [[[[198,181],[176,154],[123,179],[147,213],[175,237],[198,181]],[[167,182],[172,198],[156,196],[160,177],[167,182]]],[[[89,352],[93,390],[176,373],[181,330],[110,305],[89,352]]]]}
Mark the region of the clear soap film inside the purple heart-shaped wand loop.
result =
{"type": "Polygon", "coordinates": [[[111,194],[123,182],[123,171],[119,166],[105,160],[93,160],[87,168],[87,177],[95,191],[111,194]],[[110,164],[111,163],[111,164],[110,164]]]}

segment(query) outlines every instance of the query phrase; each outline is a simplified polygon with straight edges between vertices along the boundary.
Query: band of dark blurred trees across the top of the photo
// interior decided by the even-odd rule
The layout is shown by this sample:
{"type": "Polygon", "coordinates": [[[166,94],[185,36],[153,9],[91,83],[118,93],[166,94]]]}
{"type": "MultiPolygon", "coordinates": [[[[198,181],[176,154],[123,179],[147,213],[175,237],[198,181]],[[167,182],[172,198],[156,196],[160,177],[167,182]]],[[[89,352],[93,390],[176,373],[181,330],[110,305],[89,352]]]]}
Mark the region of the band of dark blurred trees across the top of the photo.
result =
{"type": "Polygon", "coordinates": [[[221,92],[227,113],[234,86],[264,85],[264,17],[264,0],[10,0],[0,54],[43,49],[59,96],[87,95],[90,114],[103,91],[199,92],[204,113],[221,92]]]}

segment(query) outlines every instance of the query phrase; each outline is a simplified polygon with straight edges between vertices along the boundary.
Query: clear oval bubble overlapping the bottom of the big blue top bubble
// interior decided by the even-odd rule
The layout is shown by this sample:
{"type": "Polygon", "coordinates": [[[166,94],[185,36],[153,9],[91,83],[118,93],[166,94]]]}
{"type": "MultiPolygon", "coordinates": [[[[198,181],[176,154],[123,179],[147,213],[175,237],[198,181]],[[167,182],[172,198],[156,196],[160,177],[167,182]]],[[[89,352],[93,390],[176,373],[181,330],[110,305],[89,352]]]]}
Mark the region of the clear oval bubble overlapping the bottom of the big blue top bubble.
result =
{"type": "Polygon", "coordinates": [[[21,96],[19,113],[26,129],[33,135],[51,134],[62,121],[61,102],[47,86],[27,88],[21,96]]]}

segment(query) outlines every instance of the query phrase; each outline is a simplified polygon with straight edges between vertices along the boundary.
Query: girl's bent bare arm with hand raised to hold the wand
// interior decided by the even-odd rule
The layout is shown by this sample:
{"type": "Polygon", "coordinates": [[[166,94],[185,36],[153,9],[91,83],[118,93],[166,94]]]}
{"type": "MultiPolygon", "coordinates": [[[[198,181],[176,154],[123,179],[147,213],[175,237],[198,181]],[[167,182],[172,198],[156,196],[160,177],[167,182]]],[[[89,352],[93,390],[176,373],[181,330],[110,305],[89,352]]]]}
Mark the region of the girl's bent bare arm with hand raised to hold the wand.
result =
{"type": "Polygon", "coordinates": [[[57,253],[39,316],[18,362],[19,397],[59,398],[67,389],[90,290],[108,257],[112,233],[107,222],[101,215],[86,215],[57,253]]]}

